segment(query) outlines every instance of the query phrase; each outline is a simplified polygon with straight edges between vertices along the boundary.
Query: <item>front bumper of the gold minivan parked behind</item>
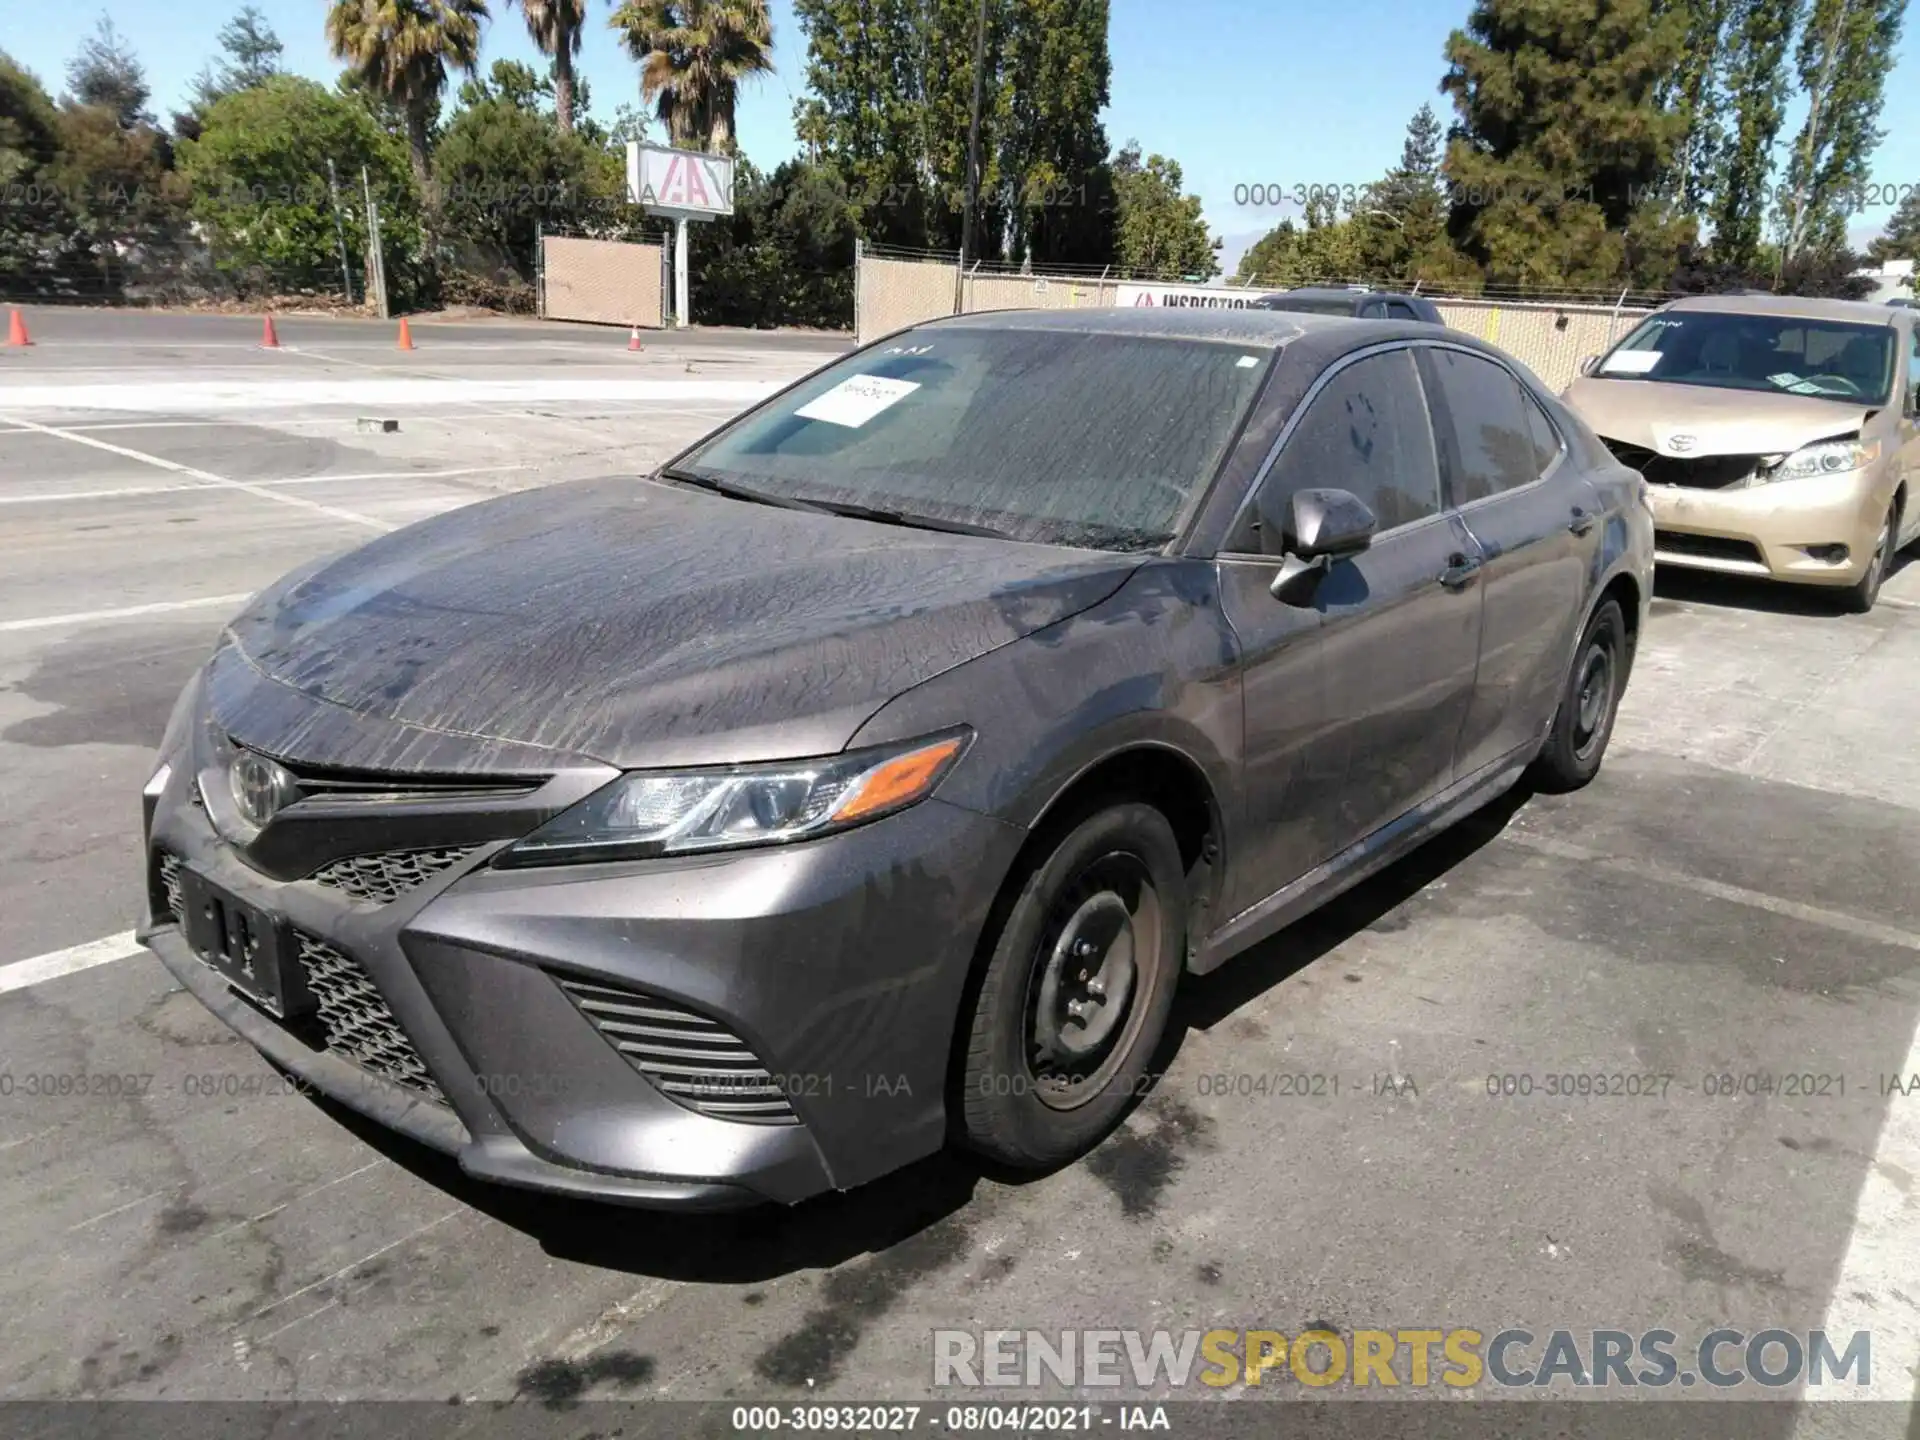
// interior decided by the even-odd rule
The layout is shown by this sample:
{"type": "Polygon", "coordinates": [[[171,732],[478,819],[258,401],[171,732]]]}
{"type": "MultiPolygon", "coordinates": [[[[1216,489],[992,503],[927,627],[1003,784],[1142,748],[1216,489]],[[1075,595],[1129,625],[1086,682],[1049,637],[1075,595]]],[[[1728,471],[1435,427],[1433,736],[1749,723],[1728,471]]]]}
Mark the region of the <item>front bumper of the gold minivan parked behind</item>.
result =
{"type": "Polygon", "coordinates": [[[1851,470],[1770,486],[1697,490],[1649,484],[1659,564],[1720,574],[1851,586],[1864,572],[1887,513],[1878,472],[1851,470]],[[1845,559],[1824,557],[1845,545],[1845,559]]]}

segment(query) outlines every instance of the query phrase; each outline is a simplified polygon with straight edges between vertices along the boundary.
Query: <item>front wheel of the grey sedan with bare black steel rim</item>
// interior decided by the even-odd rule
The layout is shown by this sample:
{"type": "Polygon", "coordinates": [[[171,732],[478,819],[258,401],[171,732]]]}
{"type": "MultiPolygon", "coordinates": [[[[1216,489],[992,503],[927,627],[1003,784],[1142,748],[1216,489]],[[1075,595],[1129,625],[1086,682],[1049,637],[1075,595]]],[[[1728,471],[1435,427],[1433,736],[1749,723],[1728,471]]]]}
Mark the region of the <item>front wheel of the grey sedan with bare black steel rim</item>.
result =
{"type": "Polygon", "coordinates": [[[1135,1096],[1187,954],[1187,876],[1165,816],[1104,806],[1027,874],[966,1018],[962,1142],[1018,1169],[1091,1150],[1135,1096]]]}

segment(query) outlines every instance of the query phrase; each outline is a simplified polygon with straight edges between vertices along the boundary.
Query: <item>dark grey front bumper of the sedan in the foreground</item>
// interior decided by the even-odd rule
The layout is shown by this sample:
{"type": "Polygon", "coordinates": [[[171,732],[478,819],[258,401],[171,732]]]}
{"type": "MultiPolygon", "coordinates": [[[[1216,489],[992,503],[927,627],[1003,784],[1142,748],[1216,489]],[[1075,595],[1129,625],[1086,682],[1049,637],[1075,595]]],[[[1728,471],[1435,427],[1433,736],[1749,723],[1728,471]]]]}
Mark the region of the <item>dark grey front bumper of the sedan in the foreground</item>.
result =
{"type": "Polygon", "coordinates": [[[470,1175],[716,1210],[849,1188],[945,1140],[962,989],[1018,828],[933,799],[724,856],[505,872],[490,843],[380,902],[250,866],[190,770],[150,797],[142,943],[275,1064],[470,1175]],[[328,970],[323,1016],[282,1023],[194,954],[163,856],[301,937],[328,970]],[[641,1012],[664,1027],[589,1018],[641,1012]],[[689,1035],[780,1098],[753,1119],[718,1081],[670,1098],[689,1035]]]}

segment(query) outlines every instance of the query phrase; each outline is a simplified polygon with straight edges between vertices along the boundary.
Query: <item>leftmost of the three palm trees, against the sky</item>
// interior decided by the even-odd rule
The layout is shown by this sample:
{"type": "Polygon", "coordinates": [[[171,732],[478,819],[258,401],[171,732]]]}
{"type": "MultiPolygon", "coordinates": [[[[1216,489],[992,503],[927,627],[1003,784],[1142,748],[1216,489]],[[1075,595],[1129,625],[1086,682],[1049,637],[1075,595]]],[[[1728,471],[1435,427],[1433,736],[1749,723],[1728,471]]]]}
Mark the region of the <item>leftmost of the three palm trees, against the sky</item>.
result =
{"type": "Polygon", "coordinates": [[[376,94],[407,115],[413,179],[432,196],[428,131],[447,88],[447,65],[472,75],[486,0],[334,0],[326,44],[376,94]]]}

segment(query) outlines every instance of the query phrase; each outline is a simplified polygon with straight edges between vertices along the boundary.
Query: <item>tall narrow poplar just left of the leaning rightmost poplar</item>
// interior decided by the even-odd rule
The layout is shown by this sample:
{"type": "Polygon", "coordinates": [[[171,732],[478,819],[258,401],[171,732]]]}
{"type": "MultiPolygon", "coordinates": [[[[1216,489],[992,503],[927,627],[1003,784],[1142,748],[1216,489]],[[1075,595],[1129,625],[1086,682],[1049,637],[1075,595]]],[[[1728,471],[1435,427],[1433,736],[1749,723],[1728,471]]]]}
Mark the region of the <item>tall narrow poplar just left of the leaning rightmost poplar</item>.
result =
{"type": "Polygon", "coordinates": [[[1713,182],[1713,250],[1751,269],[1766,225],[1774,140],[1786,117],[1788,46],[1803,0],[1732,0],[1726,27],[1728,129],[1713,182]]]}

